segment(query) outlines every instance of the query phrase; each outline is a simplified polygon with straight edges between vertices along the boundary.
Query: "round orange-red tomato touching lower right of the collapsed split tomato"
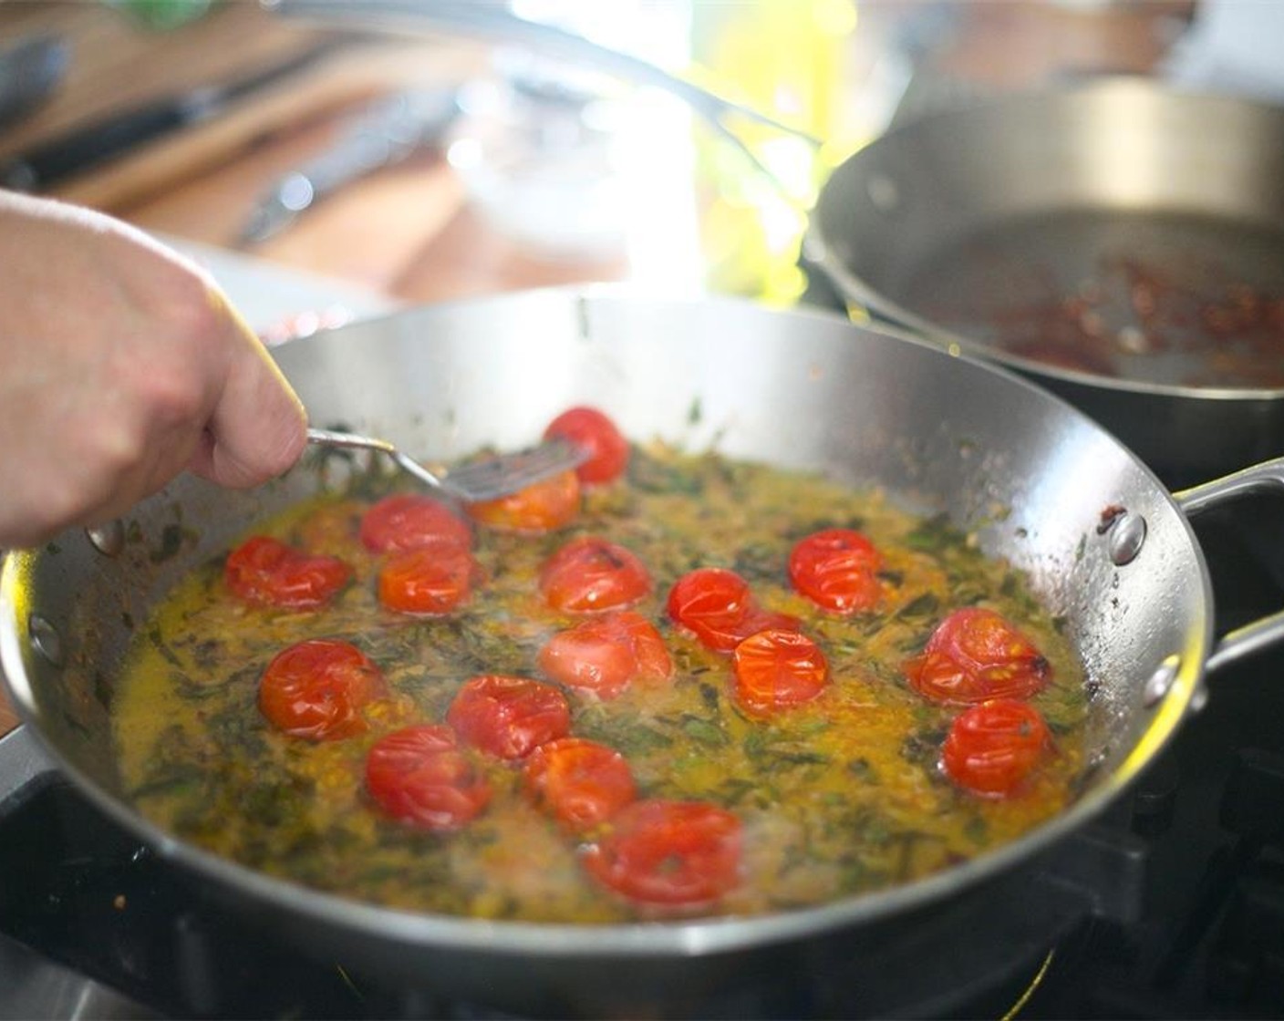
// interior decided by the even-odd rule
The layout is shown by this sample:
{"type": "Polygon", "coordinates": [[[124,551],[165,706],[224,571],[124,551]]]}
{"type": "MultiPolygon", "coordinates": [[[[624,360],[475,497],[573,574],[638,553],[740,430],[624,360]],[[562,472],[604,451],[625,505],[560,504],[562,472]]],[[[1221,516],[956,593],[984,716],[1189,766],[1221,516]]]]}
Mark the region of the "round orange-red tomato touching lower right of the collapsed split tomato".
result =
{"type": "Polygon", "coordinates": [[[811,701],[829,682],[820,647],[796,631],[760,631],[732,654],[736,702],[750,715],[768,717],[811,701]]]}

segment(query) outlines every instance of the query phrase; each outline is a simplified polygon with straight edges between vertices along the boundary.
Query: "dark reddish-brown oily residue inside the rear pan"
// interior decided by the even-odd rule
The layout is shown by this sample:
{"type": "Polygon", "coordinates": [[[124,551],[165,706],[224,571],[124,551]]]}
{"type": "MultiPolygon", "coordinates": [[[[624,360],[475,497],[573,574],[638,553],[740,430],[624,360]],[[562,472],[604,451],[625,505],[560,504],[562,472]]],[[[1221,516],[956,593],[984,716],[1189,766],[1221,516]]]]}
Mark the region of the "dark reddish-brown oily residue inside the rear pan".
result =
{"type": "Polygon", "coordinates": [[[1284,387],[1284,225],[1019,217],[937,250],[894,301],[972,340],[1129,381],[1284,387]]]}

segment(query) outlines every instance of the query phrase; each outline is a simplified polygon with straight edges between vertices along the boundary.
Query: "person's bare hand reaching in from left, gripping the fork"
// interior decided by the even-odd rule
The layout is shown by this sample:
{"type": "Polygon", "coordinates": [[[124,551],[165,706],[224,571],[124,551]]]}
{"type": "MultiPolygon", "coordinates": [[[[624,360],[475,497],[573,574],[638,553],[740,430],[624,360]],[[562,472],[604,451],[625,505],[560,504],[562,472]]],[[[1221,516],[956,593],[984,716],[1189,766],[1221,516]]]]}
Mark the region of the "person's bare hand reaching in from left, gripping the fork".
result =
{"type": "Polygon", "coordinates": [[[117,516],[185,467],[266,482],[306,421],[203,270],[110,217],[0,193],[0,546],[117,516]]]}

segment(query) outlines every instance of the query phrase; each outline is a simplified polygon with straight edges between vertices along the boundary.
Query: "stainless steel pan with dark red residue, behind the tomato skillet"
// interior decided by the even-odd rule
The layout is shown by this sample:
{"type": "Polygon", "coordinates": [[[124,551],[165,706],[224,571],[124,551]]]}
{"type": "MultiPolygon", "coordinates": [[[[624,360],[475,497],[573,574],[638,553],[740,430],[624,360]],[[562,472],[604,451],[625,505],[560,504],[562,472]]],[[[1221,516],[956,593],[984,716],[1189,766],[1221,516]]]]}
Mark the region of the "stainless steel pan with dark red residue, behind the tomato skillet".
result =
{"type": "Polygon", "coordinates": [[[833,172],[806,253],[1170,483],[1284,452],[1284,109],[1109,78],[924,116],[833,172]]]}

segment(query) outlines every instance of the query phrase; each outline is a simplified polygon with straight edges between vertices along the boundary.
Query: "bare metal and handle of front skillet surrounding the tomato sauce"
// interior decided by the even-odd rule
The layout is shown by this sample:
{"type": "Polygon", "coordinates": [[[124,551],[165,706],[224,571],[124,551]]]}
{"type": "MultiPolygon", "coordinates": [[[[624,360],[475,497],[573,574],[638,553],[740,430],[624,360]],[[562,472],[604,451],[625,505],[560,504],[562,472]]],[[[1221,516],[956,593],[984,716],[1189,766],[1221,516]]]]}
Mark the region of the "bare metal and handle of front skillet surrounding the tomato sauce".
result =
{"type": "Polygon", "coordinates": [[[27,729],[95,804],[248,917],[345,967],[539,1015],[665,1013],[693,990],[788,968],[840,943],[894,944],[987,899],[1121,796],[1203,697],[1206,674],[1274,642],[1271,618],[1217,638],[1186,512],[1284,485],[1271,462],[1176,497],[1082,414],[1009,375],[837,316],[611,289],[425,307],[290,343],[279,361],[317,421],[451,460],[528,443],[568,405],[664,437],[882,485],[948,512],[1026,570],[1067,619],[1093,687],[1093,768],[1062,816],[926,881],[754,920],[577,927],[379,908],[294,886],[158,831],[121,795],[117,664],[149,605],[259,515],[326,479],[253,493],[181,479],[118,528],[12,554],[0,664],[27,729]],[[1103,527],[1112,521],[1109,527],[1103,527]]]}

